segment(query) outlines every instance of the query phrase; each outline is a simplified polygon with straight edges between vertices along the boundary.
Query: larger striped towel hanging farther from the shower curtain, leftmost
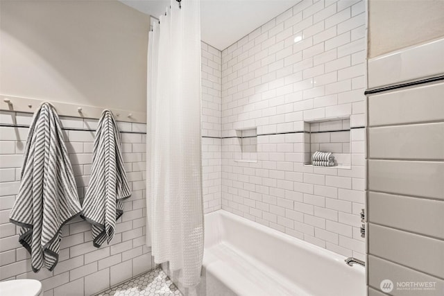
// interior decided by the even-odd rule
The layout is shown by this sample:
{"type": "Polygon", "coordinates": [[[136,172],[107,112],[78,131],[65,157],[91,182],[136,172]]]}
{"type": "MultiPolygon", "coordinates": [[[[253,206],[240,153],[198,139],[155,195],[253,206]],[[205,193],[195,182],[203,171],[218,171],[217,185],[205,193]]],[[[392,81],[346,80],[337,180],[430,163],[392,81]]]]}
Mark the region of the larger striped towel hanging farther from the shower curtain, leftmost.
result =
{"type": "Polygon", "coordinates": [[[53,270],[62,226],[80,214],[76,182],[54,107],[35,112],[24,151],[21,183],[10,222],[21,226],[19,242],[31,254],[31,267],[53,270]]]}

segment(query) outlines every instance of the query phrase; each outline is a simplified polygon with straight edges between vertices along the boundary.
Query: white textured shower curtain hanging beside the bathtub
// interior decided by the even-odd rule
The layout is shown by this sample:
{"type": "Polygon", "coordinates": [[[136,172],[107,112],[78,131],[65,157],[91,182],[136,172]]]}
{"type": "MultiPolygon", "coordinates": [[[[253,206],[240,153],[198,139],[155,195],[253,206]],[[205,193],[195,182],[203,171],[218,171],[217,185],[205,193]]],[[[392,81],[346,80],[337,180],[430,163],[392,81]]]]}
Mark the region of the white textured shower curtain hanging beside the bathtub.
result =
{"type": "Polygon", "coordinates": [[[203,257],[199,6],[171,0],[148,41],[146,243],[183,286],[203,257]]]}

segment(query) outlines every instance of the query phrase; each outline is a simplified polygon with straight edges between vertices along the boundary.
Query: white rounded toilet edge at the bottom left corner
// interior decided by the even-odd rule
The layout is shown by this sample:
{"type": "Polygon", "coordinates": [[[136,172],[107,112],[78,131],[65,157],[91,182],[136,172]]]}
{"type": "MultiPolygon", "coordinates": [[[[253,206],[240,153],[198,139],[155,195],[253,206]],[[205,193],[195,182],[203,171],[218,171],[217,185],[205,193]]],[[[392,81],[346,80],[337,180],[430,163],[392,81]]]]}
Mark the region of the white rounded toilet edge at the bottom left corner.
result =
{"type": "Polygon", "coordinates": [[[42,283],[36,279],[0,281],[1,296],[43,296],[42,283]]]}

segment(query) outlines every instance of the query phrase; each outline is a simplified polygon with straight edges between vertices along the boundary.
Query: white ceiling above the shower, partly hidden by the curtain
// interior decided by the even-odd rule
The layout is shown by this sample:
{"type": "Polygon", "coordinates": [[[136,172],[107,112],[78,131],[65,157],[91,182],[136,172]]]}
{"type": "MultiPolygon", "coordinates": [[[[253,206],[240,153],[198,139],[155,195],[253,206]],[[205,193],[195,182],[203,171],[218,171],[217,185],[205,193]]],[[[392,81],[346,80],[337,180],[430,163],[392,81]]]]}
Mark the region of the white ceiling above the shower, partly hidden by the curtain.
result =
{"type": "MultiPolygon", "coordinates": [[[[158,18],[170,0],[119,0],[158,18]]],[[[186,0],[185,0],[186,1],[186,0]]],[[[300,0],[200,0],[202,40],[223,50],[300,0]]]]}

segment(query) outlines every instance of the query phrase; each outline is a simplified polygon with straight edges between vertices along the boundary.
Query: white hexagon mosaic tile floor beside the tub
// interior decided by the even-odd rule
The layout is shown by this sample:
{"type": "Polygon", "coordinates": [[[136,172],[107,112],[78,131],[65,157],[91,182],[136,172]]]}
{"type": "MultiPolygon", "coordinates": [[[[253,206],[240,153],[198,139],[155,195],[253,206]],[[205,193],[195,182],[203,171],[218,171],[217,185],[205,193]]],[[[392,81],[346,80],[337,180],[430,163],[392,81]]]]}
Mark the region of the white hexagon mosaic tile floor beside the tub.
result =
{"type": "Polygon", "coordinates": [[[162,269],[157,268],[96,296],[182,295],[162,269]]]}

